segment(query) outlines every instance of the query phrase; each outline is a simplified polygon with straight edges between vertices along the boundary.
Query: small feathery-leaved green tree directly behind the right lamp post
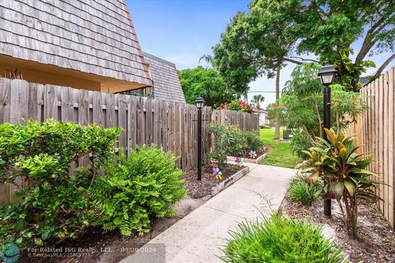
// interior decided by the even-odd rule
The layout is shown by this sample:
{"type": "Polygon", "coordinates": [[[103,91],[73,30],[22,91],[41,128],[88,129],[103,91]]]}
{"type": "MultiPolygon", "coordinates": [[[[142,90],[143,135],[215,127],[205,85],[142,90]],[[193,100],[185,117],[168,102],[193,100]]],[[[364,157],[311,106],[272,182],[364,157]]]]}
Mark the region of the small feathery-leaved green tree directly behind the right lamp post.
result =
{"type": "MultiPolygon", "coordinates": [[[[307,150],[307,142],[314,142],[315,137],[323,136],[322,84],[317,77],[321,66],[317,63],[305,63],[295,67],[292,79],[285,83],[282,97],[267,107],[271,118],[279,114],[280,121],[289,130],[294,131],[291,149],[301,157],[306,157],[301,150],[307,150]]],[[[347,91],[347,88],[331,85],[331,110],[333,129],[342,131],[367,109],[365,99],[359,93],[347,91]],[[347,118],[346,118],[347,117],[347,118]]]]}

